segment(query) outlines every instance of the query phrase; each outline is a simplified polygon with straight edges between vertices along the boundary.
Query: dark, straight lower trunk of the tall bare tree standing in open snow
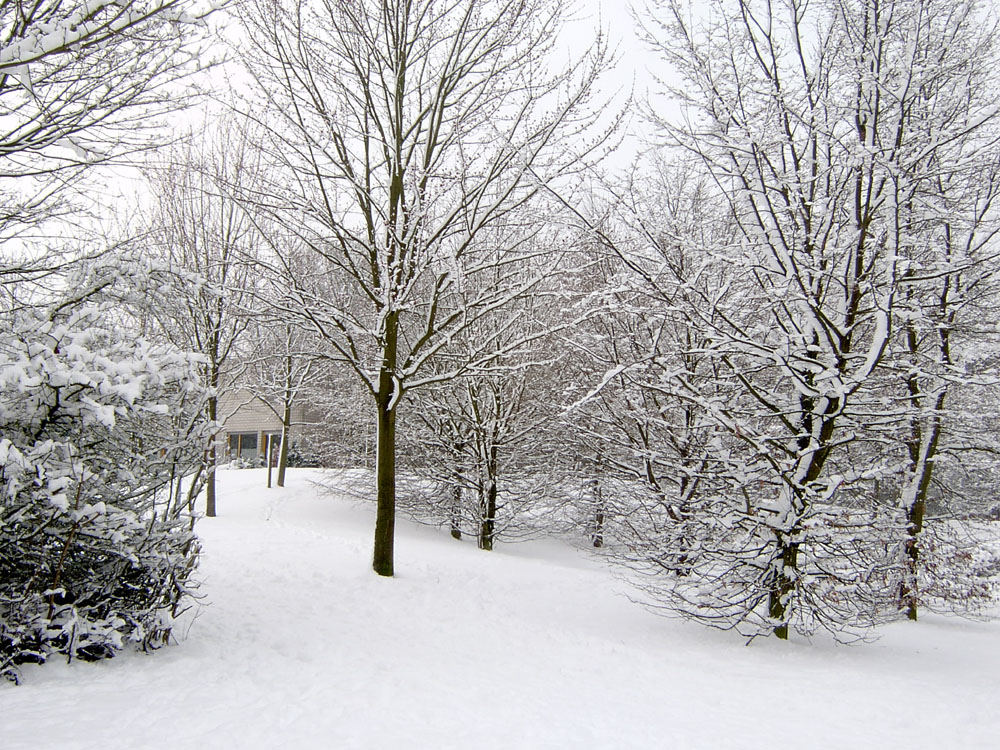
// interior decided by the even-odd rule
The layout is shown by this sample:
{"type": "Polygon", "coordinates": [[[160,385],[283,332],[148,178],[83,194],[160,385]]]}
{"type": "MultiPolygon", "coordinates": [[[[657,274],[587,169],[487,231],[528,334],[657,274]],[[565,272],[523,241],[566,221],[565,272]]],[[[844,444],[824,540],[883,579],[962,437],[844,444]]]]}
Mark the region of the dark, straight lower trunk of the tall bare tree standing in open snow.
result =
{"type": "Polygon", "coordinates": [[[372,568],[380,576],[392,575],[393,543],[396,525],[396,336],[398,319],[386,315],[385,348],[376,395],[375,455],[375,551],[372,568]]]}

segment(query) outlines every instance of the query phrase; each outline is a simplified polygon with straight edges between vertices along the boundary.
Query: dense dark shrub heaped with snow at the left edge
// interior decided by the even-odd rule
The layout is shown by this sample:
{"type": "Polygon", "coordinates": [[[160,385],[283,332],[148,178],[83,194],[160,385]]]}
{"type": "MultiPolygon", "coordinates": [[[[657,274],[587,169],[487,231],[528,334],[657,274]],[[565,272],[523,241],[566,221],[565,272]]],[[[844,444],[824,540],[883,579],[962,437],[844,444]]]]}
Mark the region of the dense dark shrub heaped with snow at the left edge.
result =
{"type": "MultiPolygon", "coordinates": [[[[70,289],[77,293],[78,289],[70,289]]],[[[192,357],[99,295],[0,311],[0,674],[169,637],[199,545],[192,357]]]]}

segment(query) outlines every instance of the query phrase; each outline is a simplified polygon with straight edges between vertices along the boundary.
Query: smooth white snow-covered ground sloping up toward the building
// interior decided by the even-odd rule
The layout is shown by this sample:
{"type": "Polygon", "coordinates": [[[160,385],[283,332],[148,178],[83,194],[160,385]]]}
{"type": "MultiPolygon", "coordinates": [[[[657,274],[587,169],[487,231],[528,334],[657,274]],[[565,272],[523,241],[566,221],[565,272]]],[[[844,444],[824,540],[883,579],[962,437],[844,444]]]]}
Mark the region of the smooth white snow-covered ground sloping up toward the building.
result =
{"type": "Polygon", "coordinates": [[[480,552],[292,470],[220,474],[179,645],[0,687],[0,748],[995,748],[1000,625],[750,646],[631,603],[557,542],[480,552]]]}

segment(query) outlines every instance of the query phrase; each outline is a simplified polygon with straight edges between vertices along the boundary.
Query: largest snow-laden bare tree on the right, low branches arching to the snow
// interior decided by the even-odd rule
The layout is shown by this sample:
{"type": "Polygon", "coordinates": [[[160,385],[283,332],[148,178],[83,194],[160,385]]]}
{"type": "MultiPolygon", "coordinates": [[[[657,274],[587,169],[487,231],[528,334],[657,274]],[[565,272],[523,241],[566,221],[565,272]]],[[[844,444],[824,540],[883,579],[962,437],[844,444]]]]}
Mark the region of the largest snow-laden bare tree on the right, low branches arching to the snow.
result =
{"type": "MultiPolygon", "coordinates": [[[[674,93],[689,113],[661,125],[703,161],[740,233],[716,253],[735,269],[726,294],[685,305],[734,396],[700,393],[683,372],[668,378],[726,431],[716,457],[742,477],[746,535],[733,559],[743,562],[730,570],[744,612],[759,612],[753,623],[733,617],[780,638],[793,623],[871,623],[885,592],[862,593],[849,547],[829,529],[838,500],[891,470],[856,463],[908,281],[908,190],[995,113],[975,105],[941,119],[921,101],[941,85],[968,95],[984,37],[965,10],[936,0],[722,0],[697,16],[681,2],[654,6],[652,37],[685,78],[674,93]],[[939,125],[948,135],[929,137],[939,125]],[[829,586],[854,593],[833,600],[829,586]]],[[[943,115],[951,105],[940,103],[943,115]]],[[[692,288],[681,281],[671,294],[692,288]]],[[[891,561],[872,565],[891,578],[891,561]]]]}

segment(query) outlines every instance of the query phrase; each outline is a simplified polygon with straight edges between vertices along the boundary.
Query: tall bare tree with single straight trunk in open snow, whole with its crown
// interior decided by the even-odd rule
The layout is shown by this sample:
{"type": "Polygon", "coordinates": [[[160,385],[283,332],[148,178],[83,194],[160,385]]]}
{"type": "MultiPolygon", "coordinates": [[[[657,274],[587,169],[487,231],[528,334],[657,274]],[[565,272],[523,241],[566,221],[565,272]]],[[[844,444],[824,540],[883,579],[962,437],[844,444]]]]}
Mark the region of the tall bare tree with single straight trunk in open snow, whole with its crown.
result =
{"type": "Polygon", "coordinates": [[[538,281],[513,272],[539,254],[518,227],[499,262],[476,240],[594,148],[571,136],[595,119],[585,105],[603,53],[548,73],[563,15],[560,0],[259,0],[245,15],[248,110],[284,169],[248,199],[313,254],[311,274],[279,269],[291,282],[279,308],[307,320],[374,401],[381,575],[393,572],[401,397],[495,358],[492,340],[451,345],[538,281]],[[450,367],[428,367],[448,353],[450,367]]]}

